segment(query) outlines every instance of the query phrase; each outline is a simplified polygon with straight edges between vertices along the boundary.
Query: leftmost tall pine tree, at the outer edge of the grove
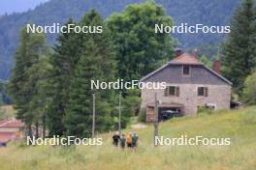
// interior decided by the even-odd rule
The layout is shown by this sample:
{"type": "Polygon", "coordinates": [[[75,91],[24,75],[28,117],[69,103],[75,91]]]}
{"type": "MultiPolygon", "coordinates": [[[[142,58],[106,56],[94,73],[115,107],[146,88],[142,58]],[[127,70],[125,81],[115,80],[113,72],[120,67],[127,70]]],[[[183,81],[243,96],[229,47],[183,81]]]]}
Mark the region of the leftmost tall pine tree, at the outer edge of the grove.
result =
{"type": "Polygon", "coordinates": [[[8,85],[17,110],[16,118],[28,126],[29,135],[31,135],[31,126],[35,117],[34,111],[29,107],[35,88],[28,84],[29,69],[38,62],[45,43],[45,35],[27,33],[25,28],[21,29],[20,44],[16,49],[16,66],[8,85]]]}

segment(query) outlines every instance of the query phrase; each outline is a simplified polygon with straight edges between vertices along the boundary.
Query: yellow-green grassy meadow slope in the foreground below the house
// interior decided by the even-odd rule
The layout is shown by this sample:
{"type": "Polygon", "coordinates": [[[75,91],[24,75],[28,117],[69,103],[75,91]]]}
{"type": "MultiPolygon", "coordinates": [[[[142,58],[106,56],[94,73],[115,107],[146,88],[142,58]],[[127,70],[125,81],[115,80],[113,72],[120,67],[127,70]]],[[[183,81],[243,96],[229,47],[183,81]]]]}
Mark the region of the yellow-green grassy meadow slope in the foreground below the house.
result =
{"type": "MultiPolygon", "coordinates": [[[[179,137],[231,137],[231,146],[152,147],[152,127],[137,130],[137,152],[112,148],[110,134],[101,147],[25,147],[0,149],[1,170],[255,170],[256,107],[219,112],[195,118],[184,117],[160,126],[160,135],[179,137]]],[[[133,129],[134,130],[134,129],[133,129]]],[[[127,129],[128,131],[128,129],[127,129]]]]}

